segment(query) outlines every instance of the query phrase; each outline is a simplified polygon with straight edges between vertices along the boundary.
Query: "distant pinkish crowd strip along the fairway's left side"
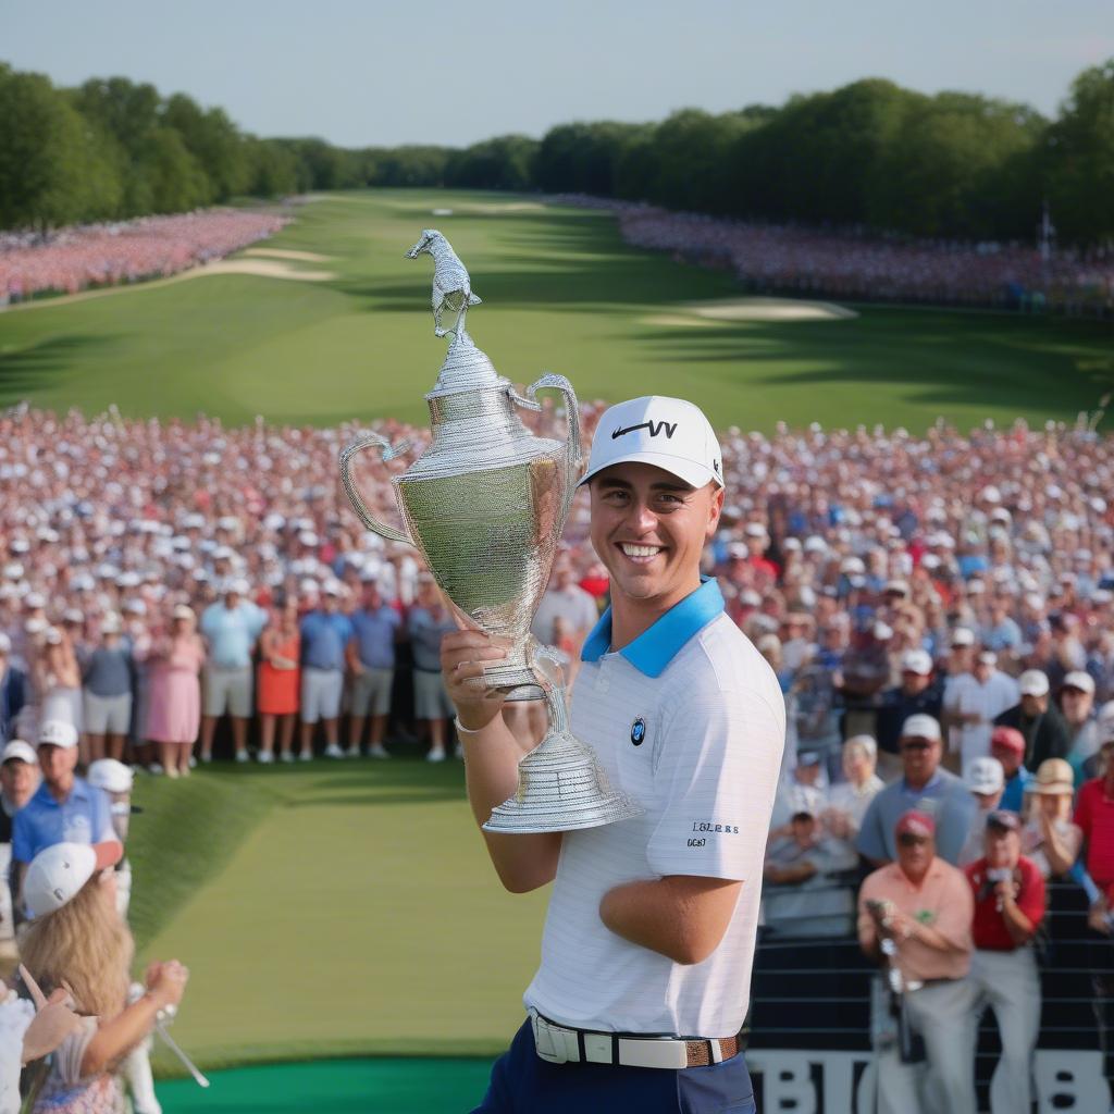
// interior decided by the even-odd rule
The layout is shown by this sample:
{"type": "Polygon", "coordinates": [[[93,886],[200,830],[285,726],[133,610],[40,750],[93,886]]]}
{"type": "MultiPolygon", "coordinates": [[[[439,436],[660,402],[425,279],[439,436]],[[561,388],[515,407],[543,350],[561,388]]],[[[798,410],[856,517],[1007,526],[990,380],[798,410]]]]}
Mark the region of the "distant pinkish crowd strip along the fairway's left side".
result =
{"type": "Polygon", "coordinates": [[[0,306],[41,294],[165,278],[273,236],[287,218],[205,209],[48,233],[0,233],[0,306]]]}

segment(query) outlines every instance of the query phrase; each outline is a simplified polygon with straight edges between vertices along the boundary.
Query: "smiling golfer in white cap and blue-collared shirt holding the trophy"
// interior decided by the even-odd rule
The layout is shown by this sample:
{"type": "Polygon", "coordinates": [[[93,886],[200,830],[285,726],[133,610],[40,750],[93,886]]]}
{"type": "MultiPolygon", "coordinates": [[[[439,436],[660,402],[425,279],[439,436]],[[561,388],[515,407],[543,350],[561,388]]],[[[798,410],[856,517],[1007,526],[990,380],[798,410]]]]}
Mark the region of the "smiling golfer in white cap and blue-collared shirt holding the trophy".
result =
{"type": "MultiPolygon", "coordinates": [[[[680,399],[600,419],[583,483],[610,608],[582,651],[571,730],[645,810],[585,831],[485,832],[504,886],[554,882],[527,1022],[477,1114],[754,1111],[737,1034],[785,735],[778,681],[724,613],[701,555],[723,507],[720,446],[680,399]]],[[[446,635],[442,666],[483,823],[518,785],[498,694],[505,651],[446,635]]]]}

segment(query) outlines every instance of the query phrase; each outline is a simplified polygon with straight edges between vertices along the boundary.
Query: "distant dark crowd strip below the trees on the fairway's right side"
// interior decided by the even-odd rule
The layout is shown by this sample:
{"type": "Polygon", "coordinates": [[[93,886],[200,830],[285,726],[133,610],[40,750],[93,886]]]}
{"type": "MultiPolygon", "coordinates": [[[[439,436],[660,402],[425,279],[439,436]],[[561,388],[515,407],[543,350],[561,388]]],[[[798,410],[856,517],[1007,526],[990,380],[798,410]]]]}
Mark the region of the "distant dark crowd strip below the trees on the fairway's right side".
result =
{"type": "Polygon", "coordinates": [[[556,198],[614,212],[624,240],[724,267],[755,291],[851,301],[1114,313],[1114,257],[1035,245],[910,241],[733,221],[632,202],[556,198]]]}

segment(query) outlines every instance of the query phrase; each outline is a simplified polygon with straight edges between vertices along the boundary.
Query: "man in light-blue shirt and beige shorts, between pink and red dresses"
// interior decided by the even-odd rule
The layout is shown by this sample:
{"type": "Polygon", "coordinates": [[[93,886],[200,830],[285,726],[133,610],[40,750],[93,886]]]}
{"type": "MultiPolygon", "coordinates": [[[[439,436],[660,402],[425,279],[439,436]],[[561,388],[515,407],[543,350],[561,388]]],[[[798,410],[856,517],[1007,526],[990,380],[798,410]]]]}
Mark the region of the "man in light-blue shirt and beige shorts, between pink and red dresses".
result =
{"type": "Polygon", "coordinates": [[[267,613],[247,598],[244,579],[227,583],[223,598],[202,614],[206,641],[203,680],[202,762],[213,758],[217,720],[228,713],[237,762],[247,761],[247,722],[252,716],[252,654],[267,622],[267,613]]]}

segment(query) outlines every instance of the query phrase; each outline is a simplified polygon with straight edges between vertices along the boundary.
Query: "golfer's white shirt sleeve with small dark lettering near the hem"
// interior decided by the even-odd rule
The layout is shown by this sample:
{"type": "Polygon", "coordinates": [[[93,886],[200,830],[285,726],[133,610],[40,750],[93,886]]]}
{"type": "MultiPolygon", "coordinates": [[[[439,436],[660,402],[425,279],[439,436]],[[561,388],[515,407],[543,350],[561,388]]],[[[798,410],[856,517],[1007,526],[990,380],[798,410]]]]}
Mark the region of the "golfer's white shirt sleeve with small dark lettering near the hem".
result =
{"type": "Polygon", "coordinates": [[[665,803],[646,848],[658,874],[761,879],[785,743],[784,713],[756,692],[710,692],[665,724],[654,775],[665,803]]]}

